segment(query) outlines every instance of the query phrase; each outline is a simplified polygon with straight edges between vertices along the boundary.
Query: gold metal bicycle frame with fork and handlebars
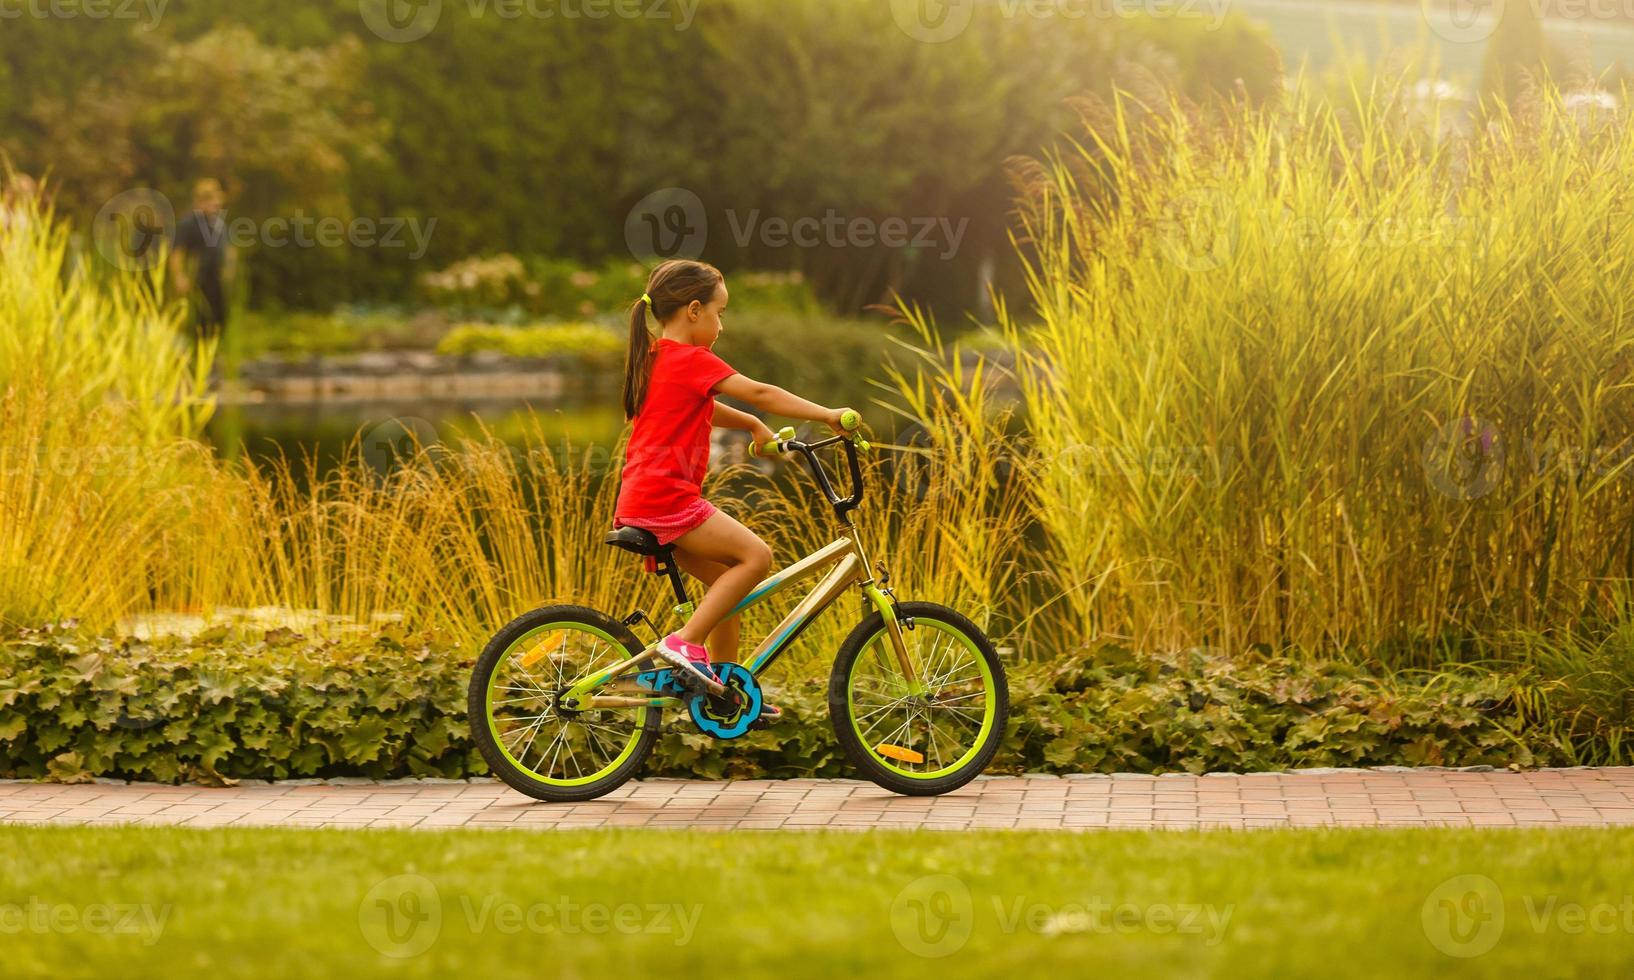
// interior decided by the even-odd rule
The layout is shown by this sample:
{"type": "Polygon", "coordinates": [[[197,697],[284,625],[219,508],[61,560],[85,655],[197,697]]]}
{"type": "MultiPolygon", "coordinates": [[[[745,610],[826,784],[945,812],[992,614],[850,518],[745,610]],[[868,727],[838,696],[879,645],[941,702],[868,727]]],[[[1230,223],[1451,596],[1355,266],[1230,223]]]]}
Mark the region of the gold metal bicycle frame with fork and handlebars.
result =
{"type": "MultiPolygon", "coordinates": [[[[832,606],[835,599],[845,595],[846,588],[858,585],[863,590],[864,598],[873,603],[881,617],[886,621],[886,634],[891,637],[891,647],[895,652],[899,666],[902,668],[902,676],[907,679],[907,693],[923,694],[923,681],[920,681],[918,673],[913,670],[913,663],[907,653],[907,644],[902,640],[902,624],[897,621],[895,604],[886,590],[874,581],[874,575],[868,564],[868,552],[863,549],[861,534],[858,532],[856,523],[850,518],[850,511],[858,506],[863,497],[863,479],[856,461],[856,444],[855,441],[845,443],[851,469],[851,495],[845,498],[833,490],[828,475],[817,462],[814,452],[815,449],[840,441],[843,441],[843,438],[837,436],[812,446],[792,441],[788,446],[806,454],[819,488],[824,492],[824,497],[828,498],[828,503],[835,510],[835,516],[840,518],[846,534],[757,585],[755,590],[750,591],[729,616],[739,616],[740,612],[752,609],[761,601],[781,593],[791,585],[827,570],[827,575],[824,575],[815,588],[812,588],[812,591],[801,599],[788,616],[783,617],[783,622],[779,622],[776,629],[773,629],[771,634],[766,635],[758,647],[755,647],[755,652],[750,653],[747,660],[748,671],[757,678],[765,673],[766,668],[770,668],[776,658],[788,650],[789,644],[806,632],[806,627],[810,626],[817,616],[832,606]]],[[[675,590],[676,612],[686,612],[691,608],[691,601],[686,598],[686,588],[681,581],[680,572],[673,565],[673,559],[668,567],[663,567],[662,570],[668,573],[670,585],[675,590]]],[[[627,675],[636,666],[652,660],[655,648],[657,644],[652,644],[629,660],[616,663],[600,675],[574,684],[562,694],[562,701],[575,706],[582,704],[583,709],[681,707],[683,701],[680,697],[596,694],[598,689],[627,675]]]]}

